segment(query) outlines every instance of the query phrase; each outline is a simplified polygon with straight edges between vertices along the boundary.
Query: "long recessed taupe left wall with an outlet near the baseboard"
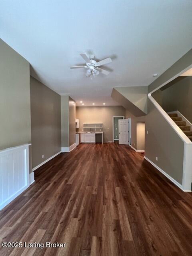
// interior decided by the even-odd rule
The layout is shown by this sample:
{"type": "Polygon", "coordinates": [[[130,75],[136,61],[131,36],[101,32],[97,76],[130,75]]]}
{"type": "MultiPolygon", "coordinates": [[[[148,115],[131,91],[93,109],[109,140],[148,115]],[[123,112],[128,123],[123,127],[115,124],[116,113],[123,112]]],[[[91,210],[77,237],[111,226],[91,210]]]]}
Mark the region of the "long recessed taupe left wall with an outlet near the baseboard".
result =
{"type": "Polygon", "coordinates": [[[61,96],[32,76],[30,92],[34,168],[61,151],[61,96]]]}

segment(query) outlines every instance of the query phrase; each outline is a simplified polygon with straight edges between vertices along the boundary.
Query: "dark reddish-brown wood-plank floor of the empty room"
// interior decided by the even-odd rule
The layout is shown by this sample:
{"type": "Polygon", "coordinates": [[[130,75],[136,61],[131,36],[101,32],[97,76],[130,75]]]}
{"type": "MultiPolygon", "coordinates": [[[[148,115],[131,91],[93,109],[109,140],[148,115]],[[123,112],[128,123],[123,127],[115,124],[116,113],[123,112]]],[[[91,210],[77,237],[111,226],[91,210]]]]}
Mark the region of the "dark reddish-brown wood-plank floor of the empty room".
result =
{"type": "Polygon", "coordinates": [[[129,146],[81,144],[35,172],[0,211],[6,242],[65,248],[2,248],[0,255],[192,256],[192,195],[129,146]]]}

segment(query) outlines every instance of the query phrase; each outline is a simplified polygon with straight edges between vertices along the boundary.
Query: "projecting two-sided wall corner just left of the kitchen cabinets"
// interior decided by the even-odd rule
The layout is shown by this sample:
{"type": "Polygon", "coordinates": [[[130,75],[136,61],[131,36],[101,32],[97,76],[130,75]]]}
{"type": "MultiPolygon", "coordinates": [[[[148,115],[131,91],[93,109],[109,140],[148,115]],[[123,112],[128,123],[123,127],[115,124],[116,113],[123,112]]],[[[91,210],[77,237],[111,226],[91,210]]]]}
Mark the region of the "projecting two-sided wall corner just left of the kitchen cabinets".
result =
{"type": "Polygon", "coordinates": [[[75,143],[76,103],[68,95],[61,96],[61,144],[70,147],[75,143]]]}

